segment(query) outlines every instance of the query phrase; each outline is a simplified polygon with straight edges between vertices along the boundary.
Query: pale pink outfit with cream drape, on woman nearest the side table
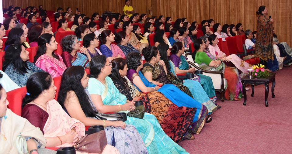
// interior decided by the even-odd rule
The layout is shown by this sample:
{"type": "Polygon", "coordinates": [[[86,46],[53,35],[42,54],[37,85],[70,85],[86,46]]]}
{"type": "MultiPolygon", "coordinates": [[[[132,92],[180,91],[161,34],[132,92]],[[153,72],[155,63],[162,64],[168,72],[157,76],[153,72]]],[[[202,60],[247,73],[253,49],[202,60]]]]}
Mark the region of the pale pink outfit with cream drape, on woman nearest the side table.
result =
{"type": "Polygon", "coordinates": [[[241,70],[243,73],[248,73],[247,69],[252,69],[252,67],[249,66],[249,63],[246,63],[245,61],[240,59],[236,54],[226,56],[226,54],[219,49],[219,46],[217,44],[215,46],[209,45],[208,48],[210,50],[210,53],[215,56],[216,59],[222,59],[222,57],[224,57],[225,59],[230,60],[235,65],[235,67],[241,70]]]}

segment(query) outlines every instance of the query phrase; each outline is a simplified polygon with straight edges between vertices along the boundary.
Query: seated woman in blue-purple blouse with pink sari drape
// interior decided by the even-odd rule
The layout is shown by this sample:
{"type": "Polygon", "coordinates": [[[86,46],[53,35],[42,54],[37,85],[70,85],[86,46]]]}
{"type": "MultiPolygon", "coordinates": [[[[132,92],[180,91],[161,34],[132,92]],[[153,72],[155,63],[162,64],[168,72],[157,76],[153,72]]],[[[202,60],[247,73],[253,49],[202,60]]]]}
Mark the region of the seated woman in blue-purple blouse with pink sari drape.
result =
{"type": "MultiPolygon", "coordinates": [[[[135,36],[136,37],[136,36],[135,36]]],[[[100,52],[106,57],[122,57],[125,58],[125,54],[115,44],[111,44],[115,41],[115,35],[112,31],[106,29],[98,36],[100,43],[102,44],[99,47],[100,52]]]]}

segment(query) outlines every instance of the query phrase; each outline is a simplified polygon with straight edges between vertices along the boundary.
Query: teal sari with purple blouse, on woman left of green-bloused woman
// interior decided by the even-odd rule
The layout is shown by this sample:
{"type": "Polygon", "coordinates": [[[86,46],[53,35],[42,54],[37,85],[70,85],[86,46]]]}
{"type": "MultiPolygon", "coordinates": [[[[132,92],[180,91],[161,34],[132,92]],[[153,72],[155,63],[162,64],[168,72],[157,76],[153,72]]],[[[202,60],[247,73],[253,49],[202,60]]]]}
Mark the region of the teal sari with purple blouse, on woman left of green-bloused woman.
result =
{"type": "MultiPolygon", "coordinates": [[[[170,68],[170,70],[172,70],[172,73],[175,72],[176,67],[178,67],[180,70],[188,70],[189,69],[189,63],[187,62],[187,58],[183,55],[178,57],[176,54],[172,54],[172,55],[170,55],[169,60],[171,60],[175,66],[175,67],[170,68]]],[[[173,73],[173,74],[175,74],[175,73],[173,73]]],[[[195,81],[200,82],[200,84],[203,86],[204,91],[207,93],[207,95],[212,100],[212,102],[216,103],[217,97],[215,94],[215,89],[214,89],[212,79],[210,77],[203,75],[203,74],[194,74],[194,78],[192,78],[190,80],[195,80],[195,81]]],[[[189,81],[187,81],[187,82],[189,82],[189,81]]]]}

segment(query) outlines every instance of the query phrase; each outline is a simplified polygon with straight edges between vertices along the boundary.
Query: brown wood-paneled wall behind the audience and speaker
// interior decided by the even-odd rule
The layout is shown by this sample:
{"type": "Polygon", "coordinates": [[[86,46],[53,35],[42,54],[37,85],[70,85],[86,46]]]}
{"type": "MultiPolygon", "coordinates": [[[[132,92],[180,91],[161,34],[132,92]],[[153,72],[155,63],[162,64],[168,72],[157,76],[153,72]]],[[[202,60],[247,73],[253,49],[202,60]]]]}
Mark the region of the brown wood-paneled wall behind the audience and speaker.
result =
{"type": "MultiPolygon", "coordinates": [[[[93,12],[102,14],[105,11],[123,12],[124,0],[3,0],[3,7],[9,5],[26,7],[43,5],[47,10],[56,10],[57,7],[73,10],[79,8],[82,13],[90,16],[93,12]]],[[[205,19],[214,19],[223,24],[243,24],[244,29],[256,30],[257,15],[255,12],[260,5],[268,8],[268,14],[274,19],[275,32],[280,42],[292,45],[292,1],[291,0],[131,0],[135,12],[146,13],[152,8],[153,15],[186,17],[188,21],[201,22],[205,19]]]]}

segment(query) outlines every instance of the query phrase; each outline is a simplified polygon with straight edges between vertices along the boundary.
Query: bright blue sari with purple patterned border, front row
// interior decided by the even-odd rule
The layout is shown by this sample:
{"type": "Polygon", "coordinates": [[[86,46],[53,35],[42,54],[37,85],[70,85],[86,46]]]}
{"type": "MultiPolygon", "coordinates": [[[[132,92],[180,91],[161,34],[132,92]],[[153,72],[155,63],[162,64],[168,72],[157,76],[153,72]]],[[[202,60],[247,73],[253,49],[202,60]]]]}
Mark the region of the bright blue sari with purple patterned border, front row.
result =
{"type": "MultiPolygon", "coordinates": [[[[134,77],[139,76],[142,82],[146,87],[155,87],[156,85],[152,84],[147,80],[147,78],[139,71],[139,74],[136,70],[128,70],[127,77],[130,78],[131,82],[133,82],[134,77]]],[[[137,86],[136,86],[137,88],[137,86]]],[[[138,91],[141,92],[139,88],[138,91]]],[[[208,114],[208,110],[206,106],[200,104],[193,98],[189,97],[187,94],[180,91],[173,84],[165,84],[161,88],[158,89],[158,92],[161,92],[166,98],[168,98],[172,103],[176,104],[178,107],[188,107],[188,108],[196,108],[196,113],[193,118],[193,123],[189,125],[188,130],[186,131],[184,138],[191,139],[193,134],[199,134],[205,125],[206,117],[208,114]],[[183,101],[182,99],[183,98],[183,101]]],[[[177,118],[177,117],[176,117],[177,118]]]]}

